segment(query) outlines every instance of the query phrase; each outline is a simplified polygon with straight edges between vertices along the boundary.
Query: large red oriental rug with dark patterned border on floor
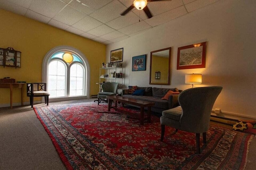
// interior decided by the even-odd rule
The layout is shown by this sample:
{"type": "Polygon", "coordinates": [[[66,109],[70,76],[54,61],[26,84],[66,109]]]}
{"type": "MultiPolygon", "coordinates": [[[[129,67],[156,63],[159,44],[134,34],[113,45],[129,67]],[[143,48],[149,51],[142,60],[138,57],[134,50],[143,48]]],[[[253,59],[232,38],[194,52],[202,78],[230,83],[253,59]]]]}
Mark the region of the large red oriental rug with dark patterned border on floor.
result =
{"type": "MultiPolygon", "coordinates": [[[[121,107],[121,105],[120,105],[121,107]]],[[[138,110],[121,113],[107,104],[77,103],[34,107],[67,169],[230,169],[246,166],[253,135],[211,125],[207,144],[196,153],[195,135],[166,127],[160,117],[140,125],[138,110]]]]}

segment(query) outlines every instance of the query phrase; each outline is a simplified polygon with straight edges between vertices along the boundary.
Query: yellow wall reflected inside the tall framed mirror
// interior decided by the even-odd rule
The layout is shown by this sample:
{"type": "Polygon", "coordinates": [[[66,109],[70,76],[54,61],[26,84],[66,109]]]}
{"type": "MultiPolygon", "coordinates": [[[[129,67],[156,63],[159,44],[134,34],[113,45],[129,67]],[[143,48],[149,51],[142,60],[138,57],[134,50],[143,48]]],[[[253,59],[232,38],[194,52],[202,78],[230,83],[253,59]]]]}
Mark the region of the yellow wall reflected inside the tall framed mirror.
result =
{"type": "Polygon", "coordinates": [[[169,59],[152,55],[151,82],[167,83],[169,59]],[[155,72],[161,72],[160,79],[155,79],[155,72]]]}

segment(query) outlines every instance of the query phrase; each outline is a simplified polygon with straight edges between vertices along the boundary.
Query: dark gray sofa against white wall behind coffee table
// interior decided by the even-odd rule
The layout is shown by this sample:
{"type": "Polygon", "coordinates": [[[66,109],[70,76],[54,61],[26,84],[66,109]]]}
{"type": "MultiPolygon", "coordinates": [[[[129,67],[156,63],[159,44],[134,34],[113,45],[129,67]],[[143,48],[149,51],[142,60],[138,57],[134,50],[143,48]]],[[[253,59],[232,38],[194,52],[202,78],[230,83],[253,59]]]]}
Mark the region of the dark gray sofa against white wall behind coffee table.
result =
{"type": "Polygon", "coordinates": [[[182,92],[177,88],[156,88],[156,87],[137,87],[138,90],[144,89],[145,92],[143,96],[133,96],[128,94],[128,89],[122,90],[122,96],[126,98],[134,98],[138,100],[143,100],[147,102],[154,102],[155,106],[151,107],[151,111],[156,113],[162,113],[164,110],[168,110],[174,107],[179,106],[178,103],[178,94],[172,94],[169,96],[169,100],[162,100],[161,98],[169,91],[173,92],[182,92]]]}

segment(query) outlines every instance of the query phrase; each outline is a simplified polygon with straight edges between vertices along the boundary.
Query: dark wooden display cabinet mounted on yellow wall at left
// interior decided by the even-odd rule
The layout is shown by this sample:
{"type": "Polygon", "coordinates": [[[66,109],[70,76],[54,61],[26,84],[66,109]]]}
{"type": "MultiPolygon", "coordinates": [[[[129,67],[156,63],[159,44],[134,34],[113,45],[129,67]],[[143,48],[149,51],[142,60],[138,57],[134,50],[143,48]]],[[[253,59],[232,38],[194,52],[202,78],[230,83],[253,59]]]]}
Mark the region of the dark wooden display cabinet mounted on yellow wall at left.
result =
{"type": "Polygon", "coordinates": [[[0,66],[20,67],[21,52],[12,47],[0,48],[0,66]]]}

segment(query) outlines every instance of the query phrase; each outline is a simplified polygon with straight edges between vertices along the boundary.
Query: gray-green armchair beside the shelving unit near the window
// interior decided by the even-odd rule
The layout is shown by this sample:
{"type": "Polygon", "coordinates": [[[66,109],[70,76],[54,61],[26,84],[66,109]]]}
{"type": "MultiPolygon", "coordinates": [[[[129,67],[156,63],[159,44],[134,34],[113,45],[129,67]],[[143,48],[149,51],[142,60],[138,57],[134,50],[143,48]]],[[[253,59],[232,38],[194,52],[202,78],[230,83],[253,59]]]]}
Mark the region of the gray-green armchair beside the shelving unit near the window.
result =
{"type": "Polygon", "coordinates": [[[102,92],[98,92],[98,105],[102,99],[106,99],[107,96],[115,96],[118,89],[118,83],[106,82],[101,85],[102,92]]]}

